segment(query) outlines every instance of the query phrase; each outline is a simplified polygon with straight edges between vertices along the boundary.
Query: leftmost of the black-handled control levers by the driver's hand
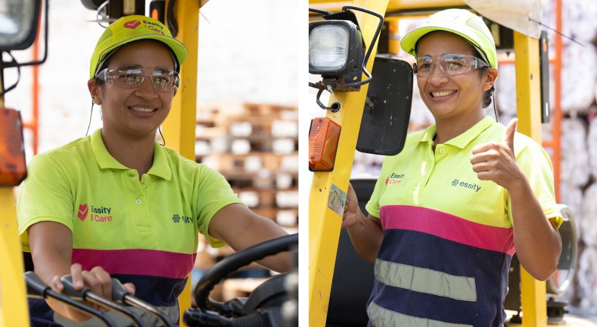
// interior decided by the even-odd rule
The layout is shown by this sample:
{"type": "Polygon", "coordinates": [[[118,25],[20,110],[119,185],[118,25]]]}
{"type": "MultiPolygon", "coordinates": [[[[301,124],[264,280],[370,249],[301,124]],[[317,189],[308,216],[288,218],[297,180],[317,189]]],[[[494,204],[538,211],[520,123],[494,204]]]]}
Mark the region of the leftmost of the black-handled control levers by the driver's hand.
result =
{"type": "Polygon", "coordinates": [[[78,301],[72,300],[64,294],[55,292],[52,288],[46,285],[38,275],[34,272],[25,273],[25,282],[27,283],[27,295],[32,298],[54,298],[62,303],[67,304],[73,309],[81,311],[82,313],[90,314],[91,316],[99,318],[108,327],[118,327],[116,323],[110,319],[106,314],[78,301]]]}

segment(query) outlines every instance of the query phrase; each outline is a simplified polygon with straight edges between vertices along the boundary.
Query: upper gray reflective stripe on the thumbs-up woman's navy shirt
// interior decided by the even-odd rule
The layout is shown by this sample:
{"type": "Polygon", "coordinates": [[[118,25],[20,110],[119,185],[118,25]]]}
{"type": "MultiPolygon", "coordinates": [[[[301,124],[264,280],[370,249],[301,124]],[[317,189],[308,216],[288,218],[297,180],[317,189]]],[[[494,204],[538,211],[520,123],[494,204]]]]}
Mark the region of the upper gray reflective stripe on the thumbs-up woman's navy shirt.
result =
{"type": "Polygon", "coordinates": [[[475,278],[453,276],[444,272],[406,264],[376,260],[375,277],[386,285],[462,301],[476,301],[475,278]]]}

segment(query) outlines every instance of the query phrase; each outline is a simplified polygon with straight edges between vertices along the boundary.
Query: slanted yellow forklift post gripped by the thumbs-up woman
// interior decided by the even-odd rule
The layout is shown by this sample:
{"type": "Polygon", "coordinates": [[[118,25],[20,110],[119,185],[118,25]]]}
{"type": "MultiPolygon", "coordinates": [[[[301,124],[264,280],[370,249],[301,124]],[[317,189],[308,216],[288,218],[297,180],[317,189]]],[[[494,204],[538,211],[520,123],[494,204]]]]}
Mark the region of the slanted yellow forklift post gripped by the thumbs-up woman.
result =
{"type": "MultiPolygon", "coordinates": [[[[367,8],[384,16],[387,0],[354,0],[352,5],[367,8]]],[[[375,16],[356,13],[365,42],[369,42],[377,28],[379,20],[375,16]]],[[[373,61],[377,49],[377,40],[373,44],[367,70],[373,71],[373,61]]],[[[350,171],[355,158],[356,139],[368,84],[361,86],[359,92],[336,92],[330,96],[330,104],[340,103],[336,113],[328,112],[327,118],[337,122],[346,132],[340,132],[337,165],[330,172],[315,172],[309,195],[309,326],[324,327],[327,318],[328,303],[338,239],[340,237],[341,215],[328,208],[328,198],[332,184],[343,192],[348,190],[350,171]],[[356,132],[353,132],[356,131],[356,132]],[[339,164],[341,163],[341,164],[339,164]]],[[[344,203],[342,203],[344,204],[344,203]]]]}

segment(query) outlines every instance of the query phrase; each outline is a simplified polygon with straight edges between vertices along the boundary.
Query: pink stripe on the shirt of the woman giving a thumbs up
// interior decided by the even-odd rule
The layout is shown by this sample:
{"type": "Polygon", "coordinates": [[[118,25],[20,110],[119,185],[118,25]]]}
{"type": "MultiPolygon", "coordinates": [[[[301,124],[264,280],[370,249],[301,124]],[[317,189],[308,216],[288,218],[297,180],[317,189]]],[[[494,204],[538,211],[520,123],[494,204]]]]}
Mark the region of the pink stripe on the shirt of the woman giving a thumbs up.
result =
{"type": "Polygon", "coordinates": [[[382,206],[380,216],[384,230],[414,230],[508,255],[515,252],[512,228],[479,224],[445,212],[410,205],[382,206]]]}

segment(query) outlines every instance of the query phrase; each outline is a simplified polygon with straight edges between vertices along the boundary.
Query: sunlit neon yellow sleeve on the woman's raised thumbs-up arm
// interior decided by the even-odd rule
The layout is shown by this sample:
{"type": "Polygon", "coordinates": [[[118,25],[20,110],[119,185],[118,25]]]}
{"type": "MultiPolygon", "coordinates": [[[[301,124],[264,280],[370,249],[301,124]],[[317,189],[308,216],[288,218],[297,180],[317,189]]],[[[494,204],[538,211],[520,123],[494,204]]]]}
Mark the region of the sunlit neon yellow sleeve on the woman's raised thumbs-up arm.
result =
{"type": "MultiPolygon", "coordinates": [[[[545,216],[559,227],[564,219],[556,205],[552,162],[549,159],[549,155],[543,150],[543,147],[539,146],[533,140],[529,140],[529,143],[516,155],[516,162],[518,162],[524,174],[527,175],[527,180],[535,196],[537,196],[545,216]]],[[[510,223],[513,224],[511,207],[512,203],[508,197],[508,218],[510,219],[510,223]]]]}

